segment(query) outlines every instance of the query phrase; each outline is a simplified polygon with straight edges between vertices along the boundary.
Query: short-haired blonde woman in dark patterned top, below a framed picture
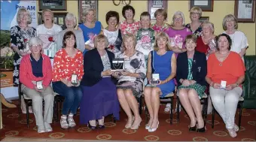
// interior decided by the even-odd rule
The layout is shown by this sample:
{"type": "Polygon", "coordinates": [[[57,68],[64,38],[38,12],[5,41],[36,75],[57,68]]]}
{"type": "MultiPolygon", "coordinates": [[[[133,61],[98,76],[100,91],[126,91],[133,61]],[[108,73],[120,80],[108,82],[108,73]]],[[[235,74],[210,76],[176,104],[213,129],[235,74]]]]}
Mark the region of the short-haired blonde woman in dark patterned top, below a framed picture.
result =
{"type": "Polygon", "coordinates": [[[191,30],[191,32],[198,37],[202,35],[202,23],[200,22],[200,17],[202,17],[202,9],[198,7],[193,7],[190,9],[190,20],[186,27],[191,30]]]}

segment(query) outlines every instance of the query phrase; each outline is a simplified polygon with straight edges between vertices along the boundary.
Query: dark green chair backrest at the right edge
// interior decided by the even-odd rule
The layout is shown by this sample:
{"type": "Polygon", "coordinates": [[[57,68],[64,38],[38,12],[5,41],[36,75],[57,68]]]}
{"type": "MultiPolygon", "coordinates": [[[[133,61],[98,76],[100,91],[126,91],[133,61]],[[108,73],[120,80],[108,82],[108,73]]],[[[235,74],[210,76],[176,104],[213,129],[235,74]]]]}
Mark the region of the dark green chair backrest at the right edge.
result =
{"type": "Polygon", "coordinates": [[[250,78],[256,79],[256,56],[244,56],[246,74],[250,78]]]}

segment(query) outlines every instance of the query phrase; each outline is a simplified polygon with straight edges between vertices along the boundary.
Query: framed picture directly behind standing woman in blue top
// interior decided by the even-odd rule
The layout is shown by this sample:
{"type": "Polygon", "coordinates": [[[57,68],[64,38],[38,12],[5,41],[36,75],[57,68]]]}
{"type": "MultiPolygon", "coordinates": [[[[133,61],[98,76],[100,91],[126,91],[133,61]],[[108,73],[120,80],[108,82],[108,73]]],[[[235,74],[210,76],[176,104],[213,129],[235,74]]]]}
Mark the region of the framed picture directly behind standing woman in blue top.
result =
{"type": "Polygon", "coordinates": [[[78,1],[78,22],[82,23],[81,17],[83,14],[83,11],[89,8],[93,8],[95,10],[95,17],[94,19],[98,19],[98,1],[88,1],[88,0],[82,0],[78,1]]]}

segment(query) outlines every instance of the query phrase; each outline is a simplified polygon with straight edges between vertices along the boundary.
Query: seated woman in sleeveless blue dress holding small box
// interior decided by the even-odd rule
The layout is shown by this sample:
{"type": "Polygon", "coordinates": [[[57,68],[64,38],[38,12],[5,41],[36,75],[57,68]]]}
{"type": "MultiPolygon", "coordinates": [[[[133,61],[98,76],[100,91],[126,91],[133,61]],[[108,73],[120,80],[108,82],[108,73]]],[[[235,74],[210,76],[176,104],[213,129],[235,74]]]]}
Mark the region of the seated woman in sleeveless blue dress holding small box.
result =
{"type": "Polygon", "coordinates": [[[175,89],[173,78],[176,74],[176,57],[169,49],[168,35],[160,32],[154,41],[154,50],[148,55],[147,79],[149,85],[144,90],[145,102],[150,115],[145,128],[150,132],[156,131],[159,125],[158,110],[160,98],[163,98],[175,89]],[[160,77],[159,83],[155,84],[155,86],[151,83],[152,74],[159,74],[160,77]]]}

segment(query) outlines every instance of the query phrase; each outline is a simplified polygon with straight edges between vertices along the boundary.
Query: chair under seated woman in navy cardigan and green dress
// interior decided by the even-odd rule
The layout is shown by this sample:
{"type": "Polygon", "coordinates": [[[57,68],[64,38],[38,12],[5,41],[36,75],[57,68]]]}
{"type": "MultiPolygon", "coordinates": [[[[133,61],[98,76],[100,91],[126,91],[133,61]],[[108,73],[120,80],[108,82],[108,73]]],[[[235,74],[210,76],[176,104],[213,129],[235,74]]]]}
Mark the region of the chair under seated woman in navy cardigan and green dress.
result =
{"type": "MultiPolygon", "coordinates": [[[[207,118],[207,106],[208,106],[208,95],[206,93],[203,94],[202,98],[200,99],[201,104],[203,104],[203,121],[206,122],[207,118]]],[[[179,106],[180,101],[177,95],[177,123],[179,124],[179,106]]]]}

